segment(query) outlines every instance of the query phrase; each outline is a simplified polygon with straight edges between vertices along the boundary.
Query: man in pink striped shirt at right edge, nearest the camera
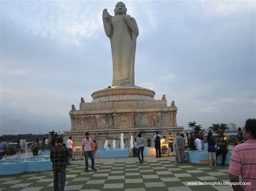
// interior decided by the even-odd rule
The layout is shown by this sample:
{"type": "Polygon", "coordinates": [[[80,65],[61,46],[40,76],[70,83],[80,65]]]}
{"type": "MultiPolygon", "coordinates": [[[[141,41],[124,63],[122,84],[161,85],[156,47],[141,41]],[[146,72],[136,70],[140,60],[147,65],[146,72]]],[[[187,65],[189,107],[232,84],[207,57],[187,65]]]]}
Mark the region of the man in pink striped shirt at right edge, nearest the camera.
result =
{"type": "Polygon", "coordinates": [[[245,143],[234,147],[230,167],[228,173],[230,174],[230,182],[239,183],[239,176],[241,182],[246,182],[242,187],[232,186],[234,190],[255,191],[256,190],[256,176],[255,176],[255,161],[256,161],[256,119],[247,119],[245,126],[242,129],[242,137],[246,140],[245,143]]]}

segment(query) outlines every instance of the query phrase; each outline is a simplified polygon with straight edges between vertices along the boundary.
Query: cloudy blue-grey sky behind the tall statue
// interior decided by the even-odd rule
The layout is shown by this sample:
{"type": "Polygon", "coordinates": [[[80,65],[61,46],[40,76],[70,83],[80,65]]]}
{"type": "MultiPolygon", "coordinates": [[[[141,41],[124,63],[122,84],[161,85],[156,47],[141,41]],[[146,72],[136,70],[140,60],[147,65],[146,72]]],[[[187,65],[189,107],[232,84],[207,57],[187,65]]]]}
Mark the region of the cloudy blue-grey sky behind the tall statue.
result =
{"type": "MultiPolygon", "coordinates": [[[[70,130],[80,97],[112,85],[102,11],[117,1],[1,1],[1,131],[70,130]]],[[[178,126],[256,117],[254,1],[124,1],[139,27],[135,84],[178,126]]]]}

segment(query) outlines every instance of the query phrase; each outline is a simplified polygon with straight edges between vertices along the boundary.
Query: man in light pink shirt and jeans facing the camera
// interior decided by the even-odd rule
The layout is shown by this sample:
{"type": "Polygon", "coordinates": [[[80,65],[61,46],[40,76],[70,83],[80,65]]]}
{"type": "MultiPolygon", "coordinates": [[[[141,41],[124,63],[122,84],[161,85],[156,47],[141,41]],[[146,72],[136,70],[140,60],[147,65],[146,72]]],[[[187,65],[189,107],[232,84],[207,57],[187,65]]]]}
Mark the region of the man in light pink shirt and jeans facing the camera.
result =
{"type": "Polygon", "coordinates": [[[86,132],[85,133],[85,138],[82,140],[82,154],[84,155],[85,157],[85,172],[89,172],[88,170],[88,159],[90,157],[91,159],[91,169],[93,171],[97,171],[97,169],[94,167],[95,165],[95,157],[94,157],[94,154],[92,152],[92,139],[89,137],[89,132],[86,132]]]}

